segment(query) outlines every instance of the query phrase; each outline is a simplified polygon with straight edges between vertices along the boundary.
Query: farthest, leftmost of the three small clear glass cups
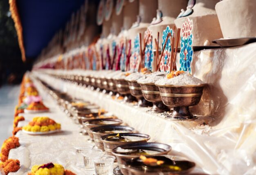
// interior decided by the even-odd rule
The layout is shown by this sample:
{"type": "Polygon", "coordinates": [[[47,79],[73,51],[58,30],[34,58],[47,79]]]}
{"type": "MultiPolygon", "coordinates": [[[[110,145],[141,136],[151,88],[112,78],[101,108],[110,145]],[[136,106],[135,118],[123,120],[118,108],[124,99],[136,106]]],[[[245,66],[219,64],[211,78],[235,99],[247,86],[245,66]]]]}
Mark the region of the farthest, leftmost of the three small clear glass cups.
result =
{"type": "Polygon", "coordinates": [[[76,166],[79,168],[83,168],[83,155],[81,154],[83,151],[89,151],[92,150],[93,145],[92,144],[81,144],[74,146],[76,149],[76,166]]]}

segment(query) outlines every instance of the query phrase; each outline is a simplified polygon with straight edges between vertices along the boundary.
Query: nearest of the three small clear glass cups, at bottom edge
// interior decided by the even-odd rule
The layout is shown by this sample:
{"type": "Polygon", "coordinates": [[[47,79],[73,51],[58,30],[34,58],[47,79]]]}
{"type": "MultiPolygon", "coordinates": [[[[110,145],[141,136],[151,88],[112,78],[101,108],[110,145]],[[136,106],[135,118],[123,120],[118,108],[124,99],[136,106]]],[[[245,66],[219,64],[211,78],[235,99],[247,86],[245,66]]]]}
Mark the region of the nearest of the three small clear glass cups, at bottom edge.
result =
{"type": "Polygon", "coordinates": [[[112,155],[102,156],[94,160],[95,175],[113,175],[115,157],[112,155]]]}

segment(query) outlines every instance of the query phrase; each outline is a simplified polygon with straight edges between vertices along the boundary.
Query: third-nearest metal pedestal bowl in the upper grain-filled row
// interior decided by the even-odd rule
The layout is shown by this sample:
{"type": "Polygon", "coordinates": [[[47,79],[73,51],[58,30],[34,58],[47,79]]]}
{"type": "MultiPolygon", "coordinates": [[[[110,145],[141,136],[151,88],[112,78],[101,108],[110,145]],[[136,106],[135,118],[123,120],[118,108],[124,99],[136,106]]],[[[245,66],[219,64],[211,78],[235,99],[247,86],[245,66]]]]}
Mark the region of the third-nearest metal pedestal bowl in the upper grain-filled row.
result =
{"type": "Polygon", "coordinates": [[[137,106],[139,107],[148,107],[148,106],[152,106],[152,103],[150,103],[149,101],[146,101],[146,99],[144,98],[142,92],[141,92],[141,86],[137,83],[137,81],[128,81],[128,85],[129,85],[129,89],[130,89],[130,93],[132,96],[135,96],[138,100],[137,106]]]}

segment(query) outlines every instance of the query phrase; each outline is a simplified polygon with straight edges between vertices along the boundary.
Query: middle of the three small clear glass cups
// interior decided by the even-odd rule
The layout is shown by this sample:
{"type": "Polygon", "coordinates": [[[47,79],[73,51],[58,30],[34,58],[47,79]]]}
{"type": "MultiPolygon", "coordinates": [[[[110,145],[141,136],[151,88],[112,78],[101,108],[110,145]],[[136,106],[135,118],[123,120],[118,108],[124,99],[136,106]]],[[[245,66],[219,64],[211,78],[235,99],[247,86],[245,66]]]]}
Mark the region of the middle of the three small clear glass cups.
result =
{"type": "Polygon", "coordinates": [[[103,154],[103,151],[98,149],[83,151],[83,168],[86,171],[94,171],[94,160],[99,159],[103,154]]]}

